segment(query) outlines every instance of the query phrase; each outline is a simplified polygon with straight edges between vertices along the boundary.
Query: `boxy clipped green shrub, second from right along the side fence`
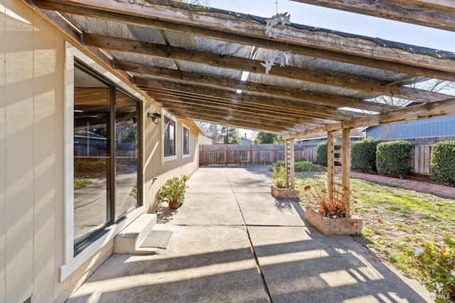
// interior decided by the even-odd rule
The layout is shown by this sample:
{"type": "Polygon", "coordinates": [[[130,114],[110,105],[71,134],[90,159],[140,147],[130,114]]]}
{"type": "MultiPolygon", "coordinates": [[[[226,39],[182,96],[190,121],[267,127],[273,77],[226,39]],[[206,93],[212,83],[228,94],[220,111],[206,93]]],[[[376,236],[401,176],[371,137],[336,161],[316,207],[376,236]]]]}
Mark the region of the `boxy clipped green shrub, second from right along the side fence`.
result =
{"type": "Polygon", "coordinates": [[[376,169],[379,174],[404,178],[410,172],[412,143],[403,140],[382,142],[376,149],[376,169]]]}

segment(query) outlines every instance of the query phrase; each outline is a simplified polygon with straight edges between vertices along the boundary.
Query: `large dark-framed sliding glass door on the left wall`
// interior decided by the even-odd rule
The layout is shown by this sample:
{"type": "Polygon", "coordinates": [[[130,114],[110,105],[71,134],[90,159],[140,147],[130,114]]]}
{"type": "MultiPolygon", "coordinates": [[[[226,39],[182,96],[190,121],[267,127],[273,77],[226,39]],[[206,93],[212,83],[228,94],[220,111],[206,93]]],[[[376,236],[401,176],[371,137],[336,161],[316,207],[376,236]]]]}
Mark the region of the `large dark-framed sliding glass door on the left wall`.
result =
{"type": "Polygon", "coordinates": [[[137,100],[75,61],[74,255],[140,206],[139,117],[137,100]]]}

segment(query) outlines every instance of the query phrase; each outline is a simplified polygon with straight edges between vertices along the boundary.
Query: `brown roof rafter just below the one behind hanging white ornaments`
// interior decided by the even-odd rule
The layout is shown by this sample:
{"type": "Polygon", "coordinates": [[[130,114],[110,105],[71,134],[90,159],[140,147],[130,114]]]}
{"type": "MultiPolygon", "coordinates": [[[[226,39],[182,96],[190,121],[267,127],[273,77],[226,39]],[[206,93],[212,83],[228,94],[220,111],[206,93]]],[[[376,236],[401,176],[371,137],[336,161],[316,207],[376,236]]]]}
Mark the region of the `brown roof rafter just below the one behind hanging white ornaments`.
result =
{"type": "Polygon", "coordinates": [[[352,107],[358,110],[368,110],[373,112],[388,112],[390,110],[397,110],[400,108],[399,106],[395,105],[386,105],[383,103],[365,101],[339,95],[308,92],[292,87],[265,85],[262,83],[253,83],[216,75],[190,73],[182,70],[173,70],[170,68],[159,68],[156,66],[124,60],[114,60],[114,67],[119,70],[129,71],[130,73],[139,73],[142,75],[149,75],[154,78],[169,79],[182,84],[206,85],[211,87],[218,87],[220,89],[226,87],[226,89],[230,90],[242,90],[249,95],[314,102],[322,105],[331,105],[336,107],[352,107]]]}

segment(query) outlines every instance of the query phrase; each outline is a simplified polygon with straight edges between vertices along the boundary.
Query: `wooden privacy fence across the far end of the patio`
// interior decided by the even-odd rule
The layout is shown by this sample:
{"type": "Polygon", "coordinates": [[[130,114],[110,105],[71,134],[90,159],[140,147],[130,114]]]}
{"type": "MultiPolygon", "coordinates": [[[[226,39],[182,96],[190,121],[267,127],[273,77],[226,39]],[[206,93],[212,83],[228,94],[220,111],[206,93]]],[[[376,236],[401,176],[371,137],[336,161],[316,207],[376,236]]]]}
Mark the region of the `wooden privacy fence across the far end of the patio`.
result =
{"type": "MultiPolygon", "coordinates": [[[[272,164],[284,161],[284,144],[200,145],[200,165],[272,164]]],[[[316,160],[316,145],[295,144],[294,161],[316,160]]]]}

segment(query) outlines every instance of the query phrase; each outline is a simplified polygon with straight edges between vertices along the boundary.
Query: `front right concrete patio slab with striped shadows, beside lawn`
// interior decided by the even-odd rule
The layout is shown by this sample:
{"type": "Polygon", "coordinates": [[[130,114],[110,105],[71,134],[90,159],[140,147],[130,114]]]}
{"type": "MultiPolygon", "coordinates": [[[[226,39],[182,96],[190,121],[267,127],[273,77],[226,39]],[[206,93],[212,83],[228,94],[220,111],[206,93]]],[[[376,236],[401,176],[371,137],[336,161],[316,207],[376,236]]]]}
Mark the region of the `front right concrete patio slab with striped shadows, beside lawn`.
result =
{"type": "Polygon", "coordinates": [[[350,236],[287,226],[248,230],[273,302],[430,300],[426,292],[414,291],[421,289],[419,283],[387,267],[350,236]]]}

